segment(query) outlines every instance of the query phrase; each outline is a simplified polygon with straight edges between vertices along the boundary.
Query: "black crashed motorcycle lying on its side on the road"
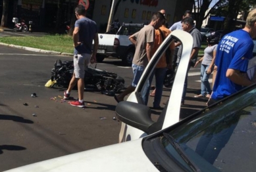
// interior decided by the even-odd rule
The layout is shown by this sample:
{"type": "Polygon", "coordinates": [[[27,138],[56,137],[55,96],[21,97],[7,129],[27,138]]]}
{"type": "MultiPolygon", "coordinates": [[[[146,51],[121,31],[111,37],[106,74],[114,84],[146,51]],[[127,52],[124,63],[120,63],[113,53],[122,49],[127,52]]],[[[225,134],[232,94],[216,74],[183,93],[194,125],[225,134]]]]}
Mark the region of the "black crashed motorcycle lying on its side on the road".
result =
{"type": "MultiPolygon", "coordinates": [[[[113,72],[99,70],[88,66],[85,70],[85,90],[101,91],[101,93],[114,96],[115,93],[124,89],[124,79],[113,72]]],[[[73,61],[56,60],[51,70],[51,79],[45,87],[67,88],[74,72],[73,61]]]]}

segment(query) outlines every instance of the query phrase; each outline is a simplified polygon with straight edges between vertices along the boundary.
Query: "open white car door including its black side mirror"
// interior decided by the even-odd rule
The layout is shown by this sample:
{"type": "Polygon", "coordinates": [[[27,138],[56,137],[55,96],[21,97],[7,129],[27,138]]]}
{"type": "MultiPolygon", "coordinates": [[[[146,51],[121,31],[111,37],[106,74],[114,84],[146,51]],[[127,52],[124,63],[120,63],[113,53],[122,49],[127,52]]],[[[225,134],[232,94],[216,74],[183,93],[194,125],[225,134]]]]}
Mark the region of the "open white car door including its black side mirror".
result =
{"type": "Polygon", "coordinates": [[[182,92],[186,72],[188,70],[188,64],[190,62],[192,45],[192,35],[182,30],[174,30],[172,33],[170,33],[170,35],[168,35],[168,37],[166,37],[165,41],[163,41],[159,49],[157,49],[151,58],[149,64],[147,64],[147,67],[145,68],[135,91],[128,97],[128,102],[120,102],[116,106],[116,116],[122,121],[122,126],[119,133],[119,142],[145,137],[146,135],[161,129],[165,129],[166,127],[179,121],[180,102],[182,100],[182,92]],[[141,104],[144,104],[141,98],[141,92],[143,89],[145,89],[147,81],[157,65],[157,62],[163,53],[165,53],[166,49],[170,47],[170,43],[172,43],[174,39],[182,43],[182,56],[176,70],[168,103],[163,109],[163,112],[160,114],[158,121],[155,122],[150,118],[151,110],[149,107],[144,105],[145,108],[147,108],[145,110],[143,110],[143,107],[141,107],[141,104]],[[140,104],[138,105],[140,107],[136,108],[136,104],[140,104]]]}

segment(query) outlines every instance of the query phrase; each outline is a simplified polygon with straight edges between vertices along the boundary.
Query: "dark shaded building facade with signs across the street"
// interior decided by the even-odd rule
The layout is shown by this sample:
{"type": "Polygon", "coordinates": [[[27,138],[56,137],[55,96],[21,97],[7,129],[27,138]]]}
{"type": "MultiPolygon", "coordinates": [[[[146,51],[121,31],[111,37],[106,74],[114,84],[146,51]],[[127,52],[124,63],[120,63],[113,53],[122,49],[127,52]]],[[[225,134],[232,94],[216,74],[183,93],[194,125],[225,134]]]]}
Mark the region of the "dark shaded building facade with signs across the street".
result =
{"type": "MultiPolygon", "coordinates": [[[[8,23],[12,18],[33,21],[38,28],[53,27],[57,18],[71,20],[74,8],[81,0],[13,0],[9,1],[8,23]]],[[[181,20],[184,11],[193,3],[186,0],[82,0],[89,4],[87,16],[95,20],[99,32],[105,32],[113,7],[113,18],[123,22],[148,24],[154,12],[165,9],[169,26],[181,20]]],[[[1,5],[3,0],[0,0],[1,5]]],[[[2,9],[1,9],[2,10],[2,9]]],[[[1,11],[0,11],[1,12],[1,11]]],[[[1,13],[0,13],[1,14],[1,13]]],[[[111,20],[113,19],[111,18],[111,20]]]]}

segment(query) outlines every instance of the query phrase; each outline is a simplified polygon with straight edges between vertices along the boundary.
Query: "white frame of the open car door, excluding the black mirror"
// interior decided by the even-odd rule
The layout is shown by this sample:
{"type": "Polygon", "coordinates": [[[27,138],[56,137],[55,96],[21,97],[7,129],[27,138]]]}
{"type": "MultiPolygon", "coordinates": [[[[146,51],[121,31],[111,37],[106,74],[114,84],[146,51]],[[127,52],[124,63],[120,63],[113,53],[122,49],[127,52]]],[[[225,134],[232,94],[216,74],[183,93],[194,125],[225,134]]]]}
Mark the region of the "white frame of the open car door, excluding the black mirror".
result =
{"type": "MultiPolygon", "coordinates": [[[[149,76],[152,74],[157,62],[163,53],[165,53],[166,49],[170,46],[170,43],[174,41],[174,39],[178,39],[182,43],[182,58],[180,60],[178,69],[176,70],[176,77],[172,85],[172,91],[170,91],[168,104],[166,104],[166,111],[160,115],[161,118],[164,119],[163,129],[178,122],[180,119],[180,102],[182,99],[184,81],[186,78],[186,72],[188,70],[188,63],[190,62],[190,54],[193,45],[193,38],[190,33],[182,30],[175,30],[168,35],[168,37],[166,37],[165,41],[163,41],[159,49],[157,49],[153,55],[153,58],[150,60],[149,64],[147,64],[147,67],[145,68],[135,91],[131,93],[127,99],[127,101],[130,102],[143,104],[141,93],[145,89],[149,76]]],[[[145,137],[146,135],[147,134],[140,129],[136,129],[135,127],[122,122],[119,133],[119,142],[139,139],[141,137],[145,137]]]]}

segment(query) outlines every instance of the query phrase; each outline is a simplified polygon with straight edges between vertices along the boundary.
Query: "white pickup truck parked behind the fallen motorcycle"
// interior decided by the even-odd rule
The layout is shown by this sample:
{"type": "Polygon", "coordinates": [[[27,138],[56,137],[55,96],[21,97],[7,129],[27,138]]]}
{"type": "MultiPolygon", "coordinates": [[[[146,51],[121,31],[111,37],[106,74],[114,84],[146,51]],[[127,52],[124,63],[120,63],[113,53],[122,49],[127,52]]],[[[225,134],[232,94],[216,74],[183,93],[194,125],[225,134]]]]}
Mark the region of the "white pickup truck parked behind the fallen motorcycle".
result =
{"type": "Polygon", "coordinates": [[[132,64],[135,47],[128,37],[143,28],[144,24],[122,24],[116,34],[99,33],[99,49],[97,62],[102,62],[105,57],[121,58],[123,64],[132,64]]]}

